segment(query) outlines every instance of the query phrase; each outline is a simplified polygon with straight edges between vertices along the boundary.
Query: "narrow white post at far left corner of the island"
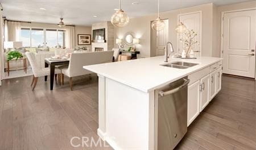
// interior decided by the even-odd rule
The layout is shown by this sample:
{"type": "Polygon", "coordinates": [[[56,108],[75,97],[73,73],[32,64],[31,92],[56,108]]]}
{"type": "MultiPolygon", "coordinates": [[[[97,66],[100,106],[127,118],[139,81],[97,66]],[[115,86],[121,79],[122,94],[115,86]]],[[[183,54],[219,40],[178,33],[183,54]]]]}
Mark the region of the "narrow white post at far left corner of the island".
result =
{"type": "Polygon", "coordinates": [[[106,78],[98,74],[98,136],[106,135],[106,78]]]}

